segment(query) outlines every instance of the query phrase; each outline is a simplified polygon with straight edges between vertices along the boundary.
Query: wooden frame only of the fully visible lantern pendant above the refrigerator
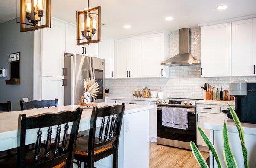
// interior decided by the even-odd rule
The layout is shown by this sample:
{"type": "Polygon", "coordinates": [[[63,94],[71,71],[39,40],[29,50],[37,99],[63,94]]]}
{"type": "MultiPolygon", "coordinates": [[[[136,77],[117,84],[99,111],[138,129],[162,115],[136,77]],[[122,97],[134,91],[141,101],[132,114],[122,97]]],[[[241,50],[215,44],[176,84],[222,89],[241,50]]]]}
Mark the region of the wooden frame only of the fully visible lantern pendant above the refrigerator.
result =
{"type": "MultiPolygon", "coordinates": [[[[91,43],[99,43],[100,42],[100,28],[101,28],[101,8],[100,6],[92,8],[92,9],[88,9],[88,10],[84,10],[84,11],[76,11],[76,40],[77,40],[77,45],[84,45],[84,44],[91,44],[91,43]],[[95,11],[97,11],[97,13],[94,13],[95,11]],[[87,15],[91,18],[91,20],[93,19],[93,17],[91,16],[92,14],[97,15],[97,39],[96,40],[90,40],[88,41],[87,39],[81,39],[81,15],[84,14],[84,23],[86,24],[86,19],[87,19],[87,15]],[[82,42],[84,41],[85,42],[82,42]]],[[[92,26],[92,25],[91,25],[92,26]]],[[[84,26],[85,31],[86,31],[86,26],[84,26]]],[[[90,36],[92,36],[92,32],[90,31],[90,36]]]]}

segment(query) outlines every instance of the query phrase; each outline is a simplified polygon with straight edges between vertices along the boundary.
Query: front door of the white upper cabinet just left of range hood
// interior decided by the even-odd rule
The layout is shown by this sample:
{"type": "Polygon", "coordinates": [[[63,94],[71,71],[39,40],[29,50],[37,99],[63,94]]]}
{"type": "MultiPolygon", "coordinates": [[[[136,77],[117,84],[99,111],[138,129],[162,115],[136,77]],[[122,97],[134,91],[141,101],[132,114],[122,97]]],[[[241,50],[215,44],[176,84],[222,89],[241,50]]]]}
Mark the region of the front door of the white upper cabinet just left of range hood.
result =
{"type": "Polygon", "coordinates": [[[143,77],[162,77],[163,34],[143,36],[143,77]]]}

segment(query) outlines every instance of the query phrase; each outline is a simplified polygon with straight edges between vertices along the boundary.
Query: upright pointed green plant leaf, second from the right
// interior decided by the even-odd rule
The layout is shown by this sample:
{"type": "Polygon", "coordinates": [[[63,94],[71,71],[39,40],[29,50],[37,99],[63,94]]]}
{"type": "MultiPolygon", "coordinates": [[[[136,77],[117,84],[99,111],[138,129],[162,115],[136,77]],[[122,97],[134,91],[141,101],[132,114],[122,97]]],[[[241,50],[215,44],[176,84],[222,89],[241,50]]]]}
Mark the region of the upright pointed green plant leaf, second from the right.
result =
{"type": "Polygon", "coordinates": [[[236,159],[232,154],[232,151],[230,150],[230,145],[228,142],[228,134],[227,134],[227,125],[226,122],[224,122],[223,125],[223,155],[224,155],[224,161],[228,168],[237,168],[236,159]]]}

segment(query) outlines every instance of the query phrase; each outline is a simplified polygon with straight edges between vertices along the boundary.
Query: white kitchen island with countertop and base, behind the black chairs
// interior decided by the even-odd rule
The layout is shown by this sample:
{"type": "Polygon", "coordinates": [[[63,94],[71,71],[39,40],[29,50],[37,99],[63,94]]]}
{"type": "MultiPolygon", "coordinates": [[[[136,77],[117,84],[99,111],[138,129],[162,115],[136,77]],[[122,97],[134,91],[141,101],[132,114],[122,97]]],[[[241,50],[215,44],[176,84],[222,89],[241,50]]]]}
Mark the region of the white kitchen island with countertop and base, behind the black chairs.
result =
{"type": "MultiPolygon", "coordinates": [[[[98,107],[114,105],[115,103],[98,103],[98,107]]],[[[52,108],[41,108],[25,111],[11,111],[0,113],[0,151],[17,147],[18,116],[25,113],[33,116],[42,113],[57,113],[64,110],[76,110],[79,105],[60,106],[52,108]]],[[[125,106],[125,114],[119,139],[118,163],[121,168],[148,167],[149,164],[149,110],[151,105],[125,106]]],[[[83,114],[79,125],[79,131],[89,130],[92,107],[83,108],[83,114]]],[[[97,119],[97,127],[101,124],[101,118],[97,119]]],[[[72,123],[70,123],[71,128],[72,123]]],[[[57,127],[57,126],[55,126],[57,127]]],[[[52,130],[55,130],[52,127],[52,130]]],[[[64,128],[64,125],[61,125],[64,128]]],[[[42,128],[41,140],[46,140],[47,129],[42,128]]],[[[38,129],[26,131],[26,144],[35,143],[38,129]]],[[[70,131],[70,130],[69,130],[70,131]]],[[[55,137],[56,132],[52,132],[55,137]]],[[[61,132],[61,135],[63,132],[61,132]]],[[[99,160],[94,164],[96,167],[112,167],[112,156],[99,160]]],[[[76,167],[76,165],[75,165],[76,167]]]]}

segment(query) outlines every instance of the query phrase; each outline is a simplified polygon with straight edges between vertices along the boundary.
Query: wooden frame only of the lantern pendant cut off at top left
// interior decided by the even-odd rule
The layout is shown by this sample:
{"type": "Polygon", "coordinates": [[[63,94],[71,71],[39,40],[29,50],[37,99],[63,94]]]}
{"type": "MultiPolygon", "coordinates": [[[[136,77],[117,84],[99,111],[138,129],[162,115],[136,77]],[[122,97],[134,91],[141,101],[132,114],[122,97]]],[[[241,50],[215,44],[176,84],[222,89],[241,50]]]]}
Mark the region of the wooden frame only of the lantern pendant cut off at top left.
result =
{"type": "MultiPolygon", "coordinates": [[[[20,0],[20,22],[18,21],[18,0],[16,0],[16,22],[20,23],[20,31],[35,31],[41,28],[51,28],[51,0],[45,0],[45,24],[44,25],[33,25],[26,23],[26,11],[25,11],[25,0],[20,0]],[[26,25],[32,27],[26,28],[26,25]]],[[[31,0],[31,19],[34,19],[34,0],[31,0]]]]}

